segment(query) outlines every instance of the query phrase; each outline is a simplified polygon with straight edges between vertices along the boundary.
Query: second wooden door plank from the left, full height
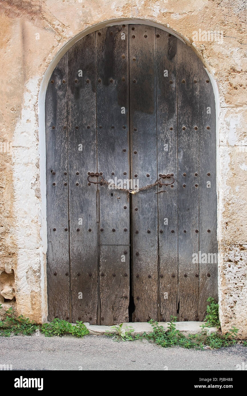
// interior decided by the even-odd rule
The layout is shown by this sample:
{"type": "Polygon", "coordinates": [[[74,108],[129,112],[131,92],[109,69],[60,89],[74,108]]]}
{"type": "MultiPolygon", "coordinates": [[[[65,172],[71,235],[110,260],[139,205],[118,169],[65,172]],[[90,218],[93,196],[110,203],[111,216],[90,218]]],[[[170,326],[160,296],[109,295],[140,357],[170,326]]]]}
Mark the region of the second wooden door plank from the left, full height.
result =
{"type": "Polygon", "coordinates": [[[98,226],[96,185],[88,172],[97,170],[95,33],[67,52],[69,216],[73,317],[96,324],[98,300],[98,226]]]}

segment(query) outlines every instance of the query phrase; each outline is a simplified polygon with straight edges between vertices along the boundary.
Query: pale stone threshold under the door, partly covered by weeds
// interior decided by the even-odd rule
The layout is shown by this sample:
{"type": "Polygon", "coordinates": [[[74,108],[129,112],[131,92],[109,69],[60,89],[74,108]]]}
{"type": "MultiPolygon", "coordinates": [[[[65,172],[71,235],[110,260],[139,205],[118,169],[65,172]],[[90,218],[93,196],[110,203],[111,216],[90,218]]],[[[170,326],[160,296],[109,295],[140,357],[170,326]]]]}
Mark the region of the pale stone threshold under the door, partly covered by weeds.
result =
{"type": "MultiPolygon", "coordinates": [[[[185,336],[186,336],[186,334],[187,335],[199,334],[203,331],[202,327],[200,327],[203,324],[205,324],[205,322],[176,322],[176,329],[180,330],[181,333],[183,333],[185,336]]],[[[94,334],[94,335],[104,335],[107,333],[115,333],[116,329],[114,326],[117,326],[117,325],[96,326],[96,325],[89,324],[88,322],[84,323],[84,325],[88,328],[89,333],[94,334]]],[[[169,322],[159,322],[159,326],[163,326],[164,330],[166,331],[168,329],[169,322]]],[[[122,329],[124,329],[125,331],[128,331],[129,329],[134,329],[134,331],[132,332],[132,335],[137,335],[137,334],[142,335],[144,332],[146,332],[148,334],[153,331],[153,327],[151,326],[151,324],[149,324],[147,322],[123,323],[122,329]]],[[[205,327],[205,330],[207,330],[207,332],[209,334],[211,334],[211,333],[215,333],[217,331],[217,328],[216,327],[205,327]]]]}

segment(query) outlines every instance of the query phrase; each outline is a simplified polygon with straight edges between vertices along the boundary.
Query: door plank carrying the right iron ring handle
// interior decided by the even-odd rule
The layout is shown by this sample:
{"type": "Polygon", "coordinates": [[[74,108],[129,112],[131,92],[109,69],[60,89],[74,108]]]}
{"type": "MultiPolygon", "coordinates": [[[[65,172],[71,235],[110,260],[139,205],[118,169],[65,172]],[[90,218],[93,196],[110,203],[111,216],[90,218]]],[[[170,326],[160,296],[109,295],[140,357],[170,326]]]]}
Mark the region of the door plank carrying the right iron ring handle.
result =
{"type": "Polygon", "coordinates": [[[169,321],[170,315],[178,317],[177,39],[161,29],[155,29],[155,33],[158,174],[173,173],[175,179],[172,187],[158,188],[162,230],[159,233],[160,320],[169,321]]]}

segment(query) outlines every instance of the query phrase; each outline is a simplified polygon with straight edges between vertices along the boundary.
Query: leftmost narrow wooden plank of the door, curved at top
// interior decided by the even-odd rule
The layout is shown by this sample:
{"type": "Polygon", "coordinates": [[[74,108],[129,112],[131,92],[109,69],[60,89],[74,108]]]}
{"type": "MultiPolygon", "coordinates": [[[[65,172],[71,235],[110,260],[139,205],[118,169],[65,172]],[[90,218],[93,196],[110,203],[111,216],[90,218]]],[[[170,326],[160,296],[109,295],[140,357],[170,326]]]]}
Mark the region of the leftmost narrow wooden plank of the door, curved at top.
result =
{"type": "Polygon", "coordinates": [[[69,320],[66,95],[65,54],[49,80],[45,102],[48,320],[69,320]]]}

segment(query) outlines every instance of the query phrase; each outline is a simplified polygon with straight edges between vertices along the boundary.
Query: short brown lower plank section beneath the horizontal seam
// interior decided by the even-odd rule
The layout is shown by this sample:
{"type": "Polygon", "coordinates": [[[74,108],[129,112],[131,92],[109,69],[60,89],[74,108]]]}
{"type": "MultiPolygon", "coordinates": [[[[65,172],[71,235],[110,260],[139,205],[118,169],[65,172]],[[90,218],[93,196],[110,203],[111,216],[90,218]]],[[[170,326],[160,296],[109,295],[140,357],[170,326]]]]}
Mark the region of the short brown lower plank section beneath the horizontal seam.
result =
{"type": "Polygon", "coordinates": [[[128,322],[129,245],[100,246],[101,324],[128,322]]]}

